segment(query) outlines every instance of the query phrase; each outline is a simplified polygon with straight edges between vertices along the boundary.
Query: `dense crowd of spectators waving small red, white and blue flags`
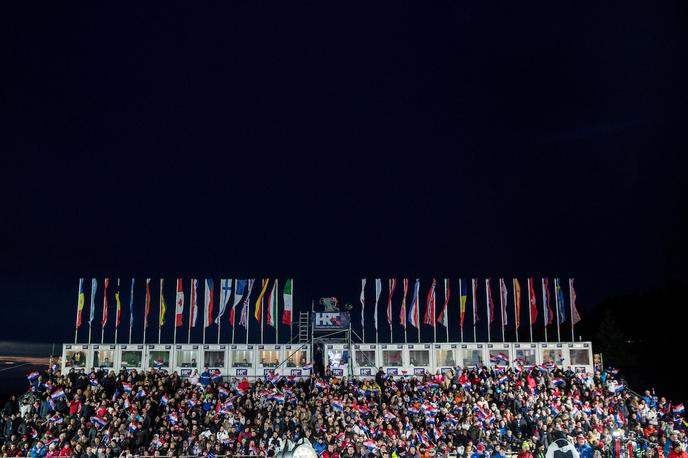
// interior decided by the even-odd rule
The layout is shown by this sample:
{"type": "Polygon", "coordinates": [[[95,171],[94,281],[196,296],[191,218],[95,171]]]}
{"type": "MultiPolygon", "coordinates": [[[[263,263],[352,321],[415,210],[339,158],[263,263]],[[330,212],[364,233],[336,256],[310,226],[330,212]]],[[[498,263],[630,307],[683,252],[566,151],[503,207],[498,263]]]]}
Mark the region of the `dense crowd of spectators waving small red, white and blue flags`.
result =
{"type": "Polygon", "coordinates": [[[249,382],[208,369],[28,378],[0,413],[0,456],[274,456],[307,439],[324,458],[545,458],[563,438],[581,458],[688,458],[682,406],[631,393],[613,370],[514,361],[367,379],[327,370],[249,382]]]}

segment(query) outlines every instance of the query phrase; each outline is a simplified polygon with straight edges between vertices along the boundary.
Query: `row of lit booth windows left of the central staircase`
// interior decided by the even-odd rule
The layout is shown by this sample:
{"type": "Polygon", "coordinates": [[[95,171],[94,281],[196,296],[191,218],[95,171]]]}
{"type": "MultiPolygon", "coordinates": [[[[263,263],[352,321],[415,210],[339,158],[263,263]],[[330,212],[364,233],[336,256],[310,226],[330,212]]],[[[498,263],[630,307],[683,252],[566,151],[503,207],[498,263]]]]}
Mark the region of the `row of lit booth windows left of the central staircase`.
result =
{"type": "MultiPolygon", "coordinates": [[[[232,367],[252,367],[253,366],[253,350],[232,350],[232,367]]],[[[280,352],[277,350],[260,350],[258,351],[258,361],[265,367],[277,367],[282,361],[280,360],[280,352]]],[[[141,350],[122,350],[123,367],[141,367],[143,359],[143,352],[141,350]]],[[[195,350],[178,350],[177,351],[177,366],[178,367],[197,367],[198,352],[195,350]]],[[[287,367],[300,367],[306,365],[306,351],[299,350],[289,353],[287,357],[287,367]]],[[[114,367],[114,350],[94,350],[93,351],[93,366],[94,367],[114,367]]],[[[86,353],[79,350],[67,350],[66,352],[66,366],[67,367],[86,367],[86,353]]],[[[152,367],[170,367],[170,352],[167,350],[153,350],[149,353],[149,366],[152,367]]],[[[203,353],[203,364],[207,367],[224,367],[225,366],[225,352],[224,351],[206,351],[203,353]]]]}

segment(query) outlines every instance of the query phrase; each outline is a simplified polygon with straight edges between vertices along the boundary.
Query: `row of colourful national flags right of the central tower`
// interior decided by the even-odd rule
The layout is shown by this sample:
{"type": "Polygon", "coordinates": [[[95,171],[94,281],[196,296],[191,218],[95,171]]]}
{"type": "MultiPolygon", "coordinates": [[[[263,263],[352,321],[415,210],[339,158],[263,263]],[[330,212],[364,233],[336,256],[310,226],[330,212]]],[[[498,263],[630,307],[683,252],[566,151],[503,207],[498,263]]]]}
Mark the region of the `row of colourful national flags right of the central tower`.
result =
{"type": "MultiPolygon", "coordinates": [[[[435,327],[436,324],[440,324],[445,328],[449,327],[448,322],[448,308],[451,299],[451,280],[448,278],[444,279],[444,298],[442,301],[442,306],[439,311],[439,315],[436,312],[437,307],[437,280],[432,279],[432,283],[427,292],[425,298],[425,313],[423,314],[423,324],[435,327]]],[[[569,308],[570,308],[570,320],[571,326],[575,325],[580,321],[580,314],[576,307],[576,292],[574,289],[574,279],[571,278],[568,281],[568,292],[569,292],[569,308]]],[[[366,306],[366,284],[367,280],[361,280],[361,325],[365,328],[365,306],[366,306]]],[[[406,329],[407,325],[413,326],[416,329],[420,328],[420,308],[421,304],[421,293],[420,293],[420,279],[416,279],[413,285],[413,290],[411,293],[410,303],[407,302],[409,296],[409,279],[404,278],[401,280],[402,293],[401,293],[401,307],[399,309],[399,324],[406,329]]],[[[392,316],[392,303],[395,296],[397,280],[392,278],[388,280],[387,289],[387,324],[392,329],[392,323],[394,318],[392,316]]],[[[497,288],[499,290],[499,295],[497,300],[499,302],[499,311],[495,312],[495,300],[492,295],[492,279],[485,279],[485,314],[486,320],[489,324],[495,321],[495,317],[498,314],[501,315],[502,325],[509,325],[510,322],[516,330],[521,326],[521,283],[518,278],[513,278],[511,280],[511,288],[507,285],[507,281],[504,278],[500,278],[497,282],[497,288]],[[510,290],[511,289],[511,290],[510,290]],[[513,320],[509,318],[509,305],[513,304],[513,320]]],[[[469,302],[469,288],[470,288],[470,302],[472,304],[472,318],[473,324],[480,321],[480,284],[478,279],[473,278],[470,281],[463,279],[458,280],[458,310],[460,313],[459,326],[463,331],[464,323],[466,319],[467,307],[469,302]]],[[[538,322],[539,309],[538,309],[538,294],[536,292],[537,286],[533,278],[528,278],[526,280],[526,294],[527,294],[527,306],[529,314],[529,325],[535,325],[538,322]]],[[[557,325],[564,323],[567,318],[567,306],[564,297],[564,288],[561,285],[559,278],[554,278],[553,281],[553,292],[554,298],[552,300],[551,292],[552,286],[548,278],[542,278],[540,281],[540,291],[542,293],[541,304],[542,304],[542,314],[544,326],[549,326],[557,319],[557,325]],[[554,307],[554,309],[553,309],[554,307]]],[[[375,305],[374,305],[374,328],[377,332],[378,330],[378,314],[377,309],[380,302],[380,296],[382,294],[382,279],[375,279],[375,305]]]]}

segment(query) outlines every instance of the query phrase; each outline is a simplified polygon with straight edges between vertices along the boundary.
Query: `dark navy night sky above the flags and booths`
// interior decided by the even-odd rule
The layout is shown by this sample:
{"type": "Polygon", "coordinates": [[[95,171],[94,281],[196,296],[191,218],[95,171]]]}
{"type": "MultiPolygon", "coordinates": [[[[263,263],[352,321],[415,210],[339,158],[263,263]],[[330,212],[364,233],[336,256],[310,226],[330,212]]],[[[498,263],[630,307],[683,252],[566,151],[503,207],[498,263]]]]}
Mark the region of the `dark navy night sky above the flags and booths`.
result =
{"type": "Polygon", "coordinates": [[[3,339],[79,277],[688,273],[685,2],[0,9],[3,339]]]}

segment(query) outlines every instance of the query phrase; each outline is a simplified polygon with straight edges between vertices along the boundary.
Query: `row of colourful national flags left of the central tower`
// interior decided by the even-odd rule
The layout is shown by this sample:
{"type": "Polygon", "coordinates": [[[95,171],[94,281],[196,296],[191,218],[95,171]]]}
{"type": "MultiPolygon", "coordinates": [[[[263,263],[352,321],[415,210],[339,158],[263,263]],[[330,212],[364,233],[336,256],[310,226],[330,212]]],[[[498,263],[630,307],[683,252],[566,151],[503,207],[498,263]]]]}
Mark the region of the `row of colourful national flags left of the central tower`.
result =
{"type": "MultiPolygon", "coordinates": [[[[204,302],[203,302],[203,326],[209,327],[213,324],[218,326],[222,323],[222,317],[224,316],[227,306],[230,304],[231,308],[229,310],[229,324],[231,326],[235,325],[236,318],[236,308],[241,304],[241,316],[239,319],[239,325],[247,327],[248,326],[248,308],[250,306],[251,292],[253,290],[255,280],[254,279],[230,279],[223,278],[220,280],[220,302],[218,304],[217,312],[215,312],[215,285],[212,278],[206,278],[204,280],[204,302]]],[[[131,289],[129,293],[129,326],[134,324],[134,285],[136,280],[131,279],[131,289]]],[[[158,326],[163,327],[165,325],[165,320],[167,317],[167,301],[164,295],[164,285],[165,279],[160,279],[160,296],[159,296],[159,314],[158,314],[158,326]]],[[[115,290],[115,328],[118,328],[121,323],[122,314],[122,302],[120,300],[120,279],[117,279],[116,290],[115,290]]],[[[103,282],[103,310],[101,316],[101,326],[105,327],[108,322],[108,288],[110,287],[110,279],[105,278],[103,282]]],[[[148,318],[150,316],[151,309],[151,279],[147,278],[145,283],[146,295],[145,295],[145,307],[144,307],[144,328],[148,327],[148,318]]],[[[91,326],[93,320],[95,319],[96,312],[96,293],[98,290],[98,281],[93,278],[91,279],[91,306],[89,309],[88,324],[91,326]]],[[[267,297],[267,324],[272,327],[277,326],[277,320],[279,319],[279,279],[270,280],[269,278],[262,280],[262,286],[258,299],[255,302],[254,307],[254,317],[256,320],[261,321],[263,314],[264,298],[266,293],[267,297]],[[269,290],[269,293],[267,293],[269,290]]],[[[283,300],[283,310],[282,310],[282,324],[291,326],[294,308],[294,280],[292,278],[287,279],[282,287],[282,300],[283,300]]],[[[84,279],[79,279],[79,297],[77,300],[77,313],[76,313],[76,329],[83,324],[82,314],[86,303],[86,291],[84,285],[84,279]]],[[[185,294],[184,285],[181,278],[177,279],[176,286],[176,298],[174,307],[174,326],[180,327],[184,325],[184,305],[185,305],[185,294]]],[[[198,279],[192,278],[189,284],[189,319],[188,326],[195,327],[198,323],[198,279]]]]}

